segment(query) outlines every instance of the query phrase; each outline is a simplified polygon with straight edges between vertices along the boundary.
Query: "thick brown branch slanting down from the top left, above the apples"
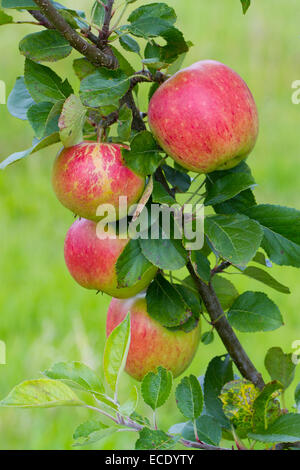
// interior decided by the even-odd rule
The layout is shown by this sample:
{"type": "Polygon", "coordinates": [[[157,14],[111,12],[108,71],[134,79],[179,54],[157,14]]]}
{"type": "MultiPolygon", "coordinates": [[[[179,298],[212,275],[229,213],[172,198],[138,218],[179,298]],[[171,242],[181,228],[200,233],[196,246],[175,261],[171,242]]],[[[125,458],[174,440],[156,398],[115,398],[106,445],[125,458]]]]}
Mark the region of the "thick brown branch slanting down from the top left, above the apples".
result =
{"type": "Polygon", "coordinates": [[[61,14],[52,5],[50,0],[34,0],[40,7],[42,14],[47,18],[57,31],[59,31],[69,44],[84,55],[96,67],[118,68],[118,61],[111,50],[104,52],[85,41],[61,14]]]}

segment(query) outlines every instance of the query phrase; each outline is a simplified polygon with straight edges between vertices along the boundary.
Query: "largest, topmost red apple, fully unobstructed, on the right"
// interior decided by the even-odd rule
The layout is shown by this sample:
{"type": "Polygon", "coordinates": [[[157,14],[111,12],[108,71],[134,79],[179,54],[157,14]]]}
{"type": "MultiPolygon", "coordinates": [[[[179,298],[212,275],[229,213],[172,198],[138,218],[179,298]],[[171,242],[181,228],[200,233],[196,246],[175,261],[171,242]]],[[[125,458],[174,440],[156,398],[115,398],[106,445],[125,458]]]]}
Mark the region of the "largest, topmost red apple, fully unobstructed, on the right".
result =
{"type": "Polygon", "coordinates": [[[165,152],[197,173],[235,167],[258,135],[249,88],[234,70],[213,60],[196,62],[164,82],[150,100],[148,119],[165,152]]]}

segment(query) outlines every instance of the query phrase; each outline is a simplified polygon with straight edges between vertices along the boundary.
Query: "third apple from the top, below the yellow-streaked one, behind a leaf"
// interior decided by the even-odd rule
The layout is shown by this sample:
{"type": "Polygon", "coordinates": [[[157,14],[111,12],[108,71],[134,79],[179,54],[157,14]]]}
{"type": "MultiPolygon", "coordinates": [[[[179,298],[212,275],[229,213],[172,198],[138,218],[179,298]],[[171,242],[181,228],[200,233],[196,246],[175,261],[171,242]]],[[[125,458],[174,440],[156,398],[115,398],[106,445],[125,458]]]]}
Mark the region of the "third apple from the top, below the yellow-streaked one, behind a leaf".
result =
{"type": "MultiPolygon", "coordinates": [[[[111,234],[113,234],[111,230],[111,234]]],[[[71,276],[82,287],[96,289],[112,297],[126,299],[145,289],[154,278],[157,268],[151,267],[131,287],[117,285],[116,262],[129,238],[100,239],[97,223],[87,219],[76,220],[65,239],[65,261],[71,276]]]]}

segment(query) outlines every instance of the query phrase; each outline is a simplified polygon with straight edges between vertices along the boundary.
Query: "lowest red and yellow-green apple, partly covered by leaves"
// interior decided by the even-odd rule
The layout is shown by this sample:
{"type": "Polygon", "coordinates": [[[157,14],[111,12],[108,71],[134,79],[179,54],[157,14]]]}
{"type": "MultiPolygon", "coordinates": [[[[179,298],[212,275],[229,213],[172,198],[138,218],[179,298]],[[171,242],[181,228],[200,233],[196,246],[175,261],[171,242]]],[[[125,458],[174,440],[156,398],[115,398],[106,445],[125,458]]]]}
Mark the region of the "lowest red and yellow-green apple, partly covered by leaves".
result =
{"type": "Polygon", "coordinates": [[[131,342],[125,370],[136,380],[142,380],[158,366],[178,377],[192,362],[201,336],[200,322],[194,330],[170,331],[147,313],[145,294],[133,299],[112,299],[106,321],[106,335],[118,326],[130,312],[131,342]]]}

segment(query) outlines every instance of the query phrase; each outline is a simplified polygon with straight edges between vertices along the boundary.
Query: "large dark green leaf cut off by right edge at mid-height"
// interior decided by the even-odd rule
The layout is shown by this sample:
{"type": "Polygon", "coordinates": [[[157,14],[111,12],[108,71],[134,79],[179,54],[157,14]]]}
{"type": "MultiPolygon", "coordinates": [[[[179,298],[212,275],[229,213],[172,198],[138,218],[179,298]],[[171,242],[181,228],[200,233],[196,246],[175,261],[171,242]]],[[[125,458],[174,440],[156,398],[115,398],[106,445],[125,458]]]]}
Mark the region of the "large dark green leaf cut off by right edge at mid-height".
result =
{"type": "Polygon", "coordinates": [[[300,267],[300,211],[288,207],[260,204],[247,210],[264,230],[262,247],[280,266],[300,267]]]}

